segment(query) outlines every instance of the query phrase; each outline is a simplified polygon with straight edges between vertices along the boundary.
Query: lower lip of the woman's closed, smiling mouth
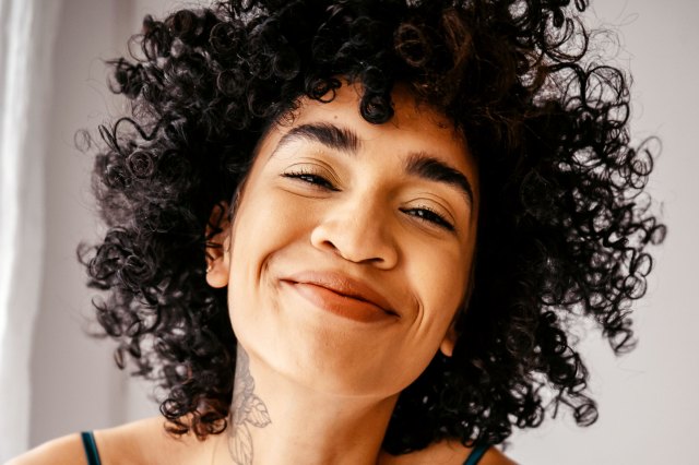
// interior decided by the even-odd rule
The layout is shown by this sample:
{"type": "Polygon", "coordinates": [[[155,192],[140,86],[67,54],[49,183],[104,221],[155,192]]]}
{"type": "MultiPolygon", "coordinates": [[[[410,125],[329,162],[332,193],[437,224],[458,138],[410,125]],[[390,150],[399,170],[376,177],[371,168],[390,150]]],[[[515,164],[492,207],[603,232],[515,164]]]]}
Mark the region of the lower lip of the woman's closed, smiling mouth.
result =
{"type": "Polygon", "coordinates": [[[294,287],[301,297],[316,307],[350,320],[374,323],[390,320],[394,317],[371,302],[343,296],[322,286],[308,283],[283,283],[294,287]]]}

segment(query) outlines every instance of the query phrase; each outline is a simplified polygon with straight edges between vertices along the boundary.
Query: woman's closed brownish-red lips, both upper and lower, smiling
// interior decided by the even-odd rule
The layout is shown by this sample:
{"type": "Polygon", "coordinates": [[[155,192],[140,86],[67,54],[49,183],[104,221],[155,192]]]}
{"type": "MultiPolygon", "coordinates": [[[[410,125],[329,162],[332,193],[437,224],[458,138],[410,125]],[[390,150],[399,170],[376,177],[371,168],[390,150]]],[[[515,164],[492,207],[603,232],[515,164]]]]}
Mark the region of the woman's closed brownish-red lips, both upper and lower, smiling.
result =
{"type": "Polygon", "coordinates": [[[381,293],[368,283],[343,273],[300,272],[284,277],[282,282],[296,285],[297,290],[313,303],[348,318],[364,321],[386,315],[398,317],[381,293]]]}

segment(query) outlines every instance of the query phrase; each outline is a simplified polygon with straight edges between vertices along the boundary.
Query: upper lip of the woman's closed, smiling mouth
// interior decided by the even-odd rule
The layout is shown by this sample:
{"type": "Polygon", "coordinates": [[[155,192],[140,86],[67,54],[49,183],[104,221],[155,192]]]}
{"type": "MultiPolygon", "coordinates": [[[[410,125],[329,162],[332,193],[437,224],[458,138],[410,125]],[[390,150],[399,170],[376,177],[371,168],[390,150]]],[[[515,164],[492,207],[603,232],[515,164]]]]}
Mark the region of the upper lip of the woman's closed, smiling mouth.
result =
{"type": "Polygon", "coordinates": [[[374,303],[387,313],[398,314],[392,309],[389,300],[381,293],[371,287],[371,285],[341,272],[306,271],[294,273],[284,277],[282,281],[289,281],[298,284],[312,284],[315,286],[324,287],[333,293],[374,303]]]}

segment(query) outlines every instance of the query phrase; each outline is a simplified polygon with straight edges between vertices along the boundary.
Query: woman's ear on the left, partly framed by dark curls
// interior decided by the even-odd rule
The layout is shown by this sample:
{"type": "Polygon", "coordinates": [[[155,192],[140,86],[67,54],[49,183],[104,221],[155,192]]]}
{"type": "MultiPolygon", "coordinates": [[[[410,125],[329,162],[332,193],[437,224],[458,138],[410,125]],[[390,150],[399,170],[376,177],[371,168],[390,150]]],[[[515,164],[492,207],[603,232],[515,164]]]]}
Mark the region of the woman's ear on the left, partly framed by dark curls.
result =
{"type": "Polygon", "coordinates": [[[221,288],[228,285],[230,271],[230,222],[228,203],[217,203],[206,224],[206,283],[221,288]]]}

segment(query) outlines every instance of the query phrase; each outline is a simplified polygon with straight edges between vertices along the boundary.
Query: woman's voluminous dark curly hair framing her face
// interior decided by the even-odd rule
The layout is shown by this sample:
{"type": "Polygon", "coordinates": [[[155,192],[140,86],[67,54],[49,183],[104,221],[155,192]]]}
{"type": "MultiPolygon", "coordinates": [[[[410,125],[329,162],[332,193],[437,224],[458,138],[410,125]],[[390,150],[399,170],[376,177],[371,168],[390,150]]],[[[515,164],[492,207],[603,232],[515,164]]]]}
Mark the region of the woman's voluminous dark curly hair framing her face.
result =
{"type": "MultiPolygon", "coordinates": [[[[129,117],[100,127],[94,190],[108,226],[82,249],[117,362],[157,382],[174,433],[226,428],[236,339],[205,283],[211,212],[229,202],[265,128],[299,98],[357,83],[381,124],[407,85],[465,135],[478,166],[473,291],[453,357],[400,395],[390,453],[455,438],[495,444],[569,407],[597,417],[571,324],[632,347],[630,306],[665,227],[631,145],[626,74],[590,58],[587,0],[232,0],[146,16],[110,61],[129,117]]],[[[330,93],[330,94],[329,94],[330,93]]],[[[652,141],[651,141],[652,142],[652,141]]]]}

